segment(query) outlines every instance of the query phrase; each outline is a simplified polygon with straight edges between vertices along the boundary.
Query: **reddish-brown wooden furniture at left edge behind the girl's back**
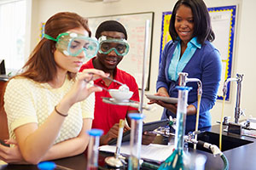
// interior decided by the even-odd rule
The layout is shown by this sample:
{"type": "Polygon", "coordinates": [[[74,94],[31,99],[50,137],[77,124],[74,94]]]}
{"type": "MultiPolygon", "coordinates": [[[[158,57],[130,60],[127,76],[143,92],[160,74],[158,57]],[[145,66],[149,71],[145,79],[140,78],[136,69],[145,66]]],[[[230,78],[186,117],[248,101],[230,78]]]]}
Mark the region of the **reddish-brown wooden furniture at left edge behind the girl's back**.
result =
{"type": "Polygon", "coordinates": [[[7,117],[3,109],[3,90],[6,82],[0,80],[0,139],[9,139],[7,117]]]}

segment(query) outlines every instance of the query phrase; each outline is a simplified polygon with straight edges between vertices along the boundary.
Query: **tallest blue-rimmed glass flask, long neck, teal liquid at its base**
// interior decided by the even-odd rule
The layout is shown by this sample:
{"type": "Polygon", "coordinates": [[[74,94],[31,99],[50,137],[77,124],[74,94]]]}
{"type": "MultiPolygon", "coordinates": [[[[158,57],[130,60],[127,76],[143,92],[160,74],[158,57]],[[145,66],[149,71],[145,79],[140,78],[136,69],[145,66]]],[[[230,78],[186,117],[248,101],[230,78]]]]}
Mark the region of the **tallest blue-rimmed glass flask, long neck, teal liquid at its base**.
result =
{"type": "Polygon", "coordinates": [[[176,87],[178,89],[177,96],[177,121],[176,121],[176,132],[175,132],[175,150],[172,155],[169,156],[166,161],[164,161],[158,169],[187,169],[184,166],[185,154],[183,152],[184,146],[184,134],[186,127],[186,115],[187,115],[187,101],[188,94],[191,88],[189,87],[176,87]]]}

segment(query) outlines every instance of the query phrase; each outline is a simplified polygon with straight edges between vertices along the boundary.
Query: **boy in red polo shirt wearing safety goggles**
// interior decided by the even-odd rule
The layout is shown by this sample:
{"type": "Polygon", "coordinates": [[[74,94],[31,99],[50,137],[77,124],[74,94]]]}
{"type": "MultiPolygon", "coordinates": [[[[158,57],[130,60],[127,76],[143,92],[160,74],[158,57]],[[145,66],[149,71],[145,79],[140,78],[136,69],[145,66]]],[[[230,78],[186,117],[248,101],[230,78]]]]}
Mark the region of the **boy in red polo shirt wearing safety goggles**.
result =
{"type": "MultiPolygon", "coordinates": [[[[109,73],[111,78],[126,84],[130,91],[133,92],[132,100],[139,101],[139,93],[137,82],[129,73],[120,70],[117,65],[125,57],[129,51],[127,43],[127,32],[125,27],[118,21],[107,20],[100,24],[96,29],[96,38],[100,43],[100,48],[96,57],[90,59],[82,65],[80,71],[89,68],[96,68],[109,73]]],[[[127,63],[131,65],[131,63],[127,63]]],[[[95,84],[108,89],[118,89],[120,84],[112,82],[107,78],[97,79],[95,84]]],[[[111,105],[102,102],[102,97],[110,98],[110,94],[106,90],[96,93],[95,115],[92,122],[92,128],[100,128],[104,131],[100,144],[108,144],[110,139],[118,137],[119,120],[125,119],[131,125],[129,113],[137,113],[137,108],[124,105],[111,105]]],[[[130,129],[125,126],[124,131],[130,129]]],[[[143,144],[150,144],[154,140],[154,133],[143,133],[143,144]]]]}

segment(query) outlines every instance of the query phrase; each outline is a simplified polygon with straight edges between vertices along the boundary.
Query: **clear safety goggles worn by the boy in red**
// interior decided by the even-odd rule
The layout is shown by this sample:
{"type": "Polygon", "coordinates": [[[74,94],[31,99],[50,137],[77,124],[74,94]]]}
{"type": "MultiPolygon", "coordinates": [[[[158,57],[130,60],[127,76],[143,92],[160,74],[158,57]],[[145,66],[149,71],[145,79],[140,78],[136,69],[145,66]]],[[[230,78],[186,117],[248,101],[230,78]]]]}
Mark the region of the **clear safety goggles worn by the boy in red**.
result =
{"type": "Polygon", "coordinates": [[[114,51],[115,54],[124,56],[129,52],[129,44],[125,39],[115,39],[106,36],[99,37],[100,43],[99,53],[109,54],[114,51]]]}

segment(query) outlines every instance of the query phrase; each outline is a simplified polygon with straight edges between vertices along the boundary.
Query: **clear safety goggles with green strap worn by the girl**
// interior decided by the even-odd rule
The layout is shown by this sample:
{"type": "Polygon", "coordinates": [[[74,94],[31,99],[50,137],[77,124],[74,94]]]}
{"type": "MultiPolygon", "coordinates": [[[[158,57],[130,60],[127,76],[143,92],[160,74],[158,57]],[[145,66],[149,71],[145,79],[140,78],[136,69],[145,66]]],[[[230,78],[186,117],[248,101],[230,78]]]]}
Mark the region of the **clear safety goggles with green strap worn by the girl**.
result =
{"type": "Polygon", "coordinates": [[[44,37],[55,41],[55,47],[61,51],[62,54],[71,55],[73,57],[78,56],[84,51],[85,57],[92,58],[99,49],[99,43],[96,40],[90,37],[84,37],[84,35],[75,32],[61,33],[56,39],[47,34],[44,34],[44,37]]]}

